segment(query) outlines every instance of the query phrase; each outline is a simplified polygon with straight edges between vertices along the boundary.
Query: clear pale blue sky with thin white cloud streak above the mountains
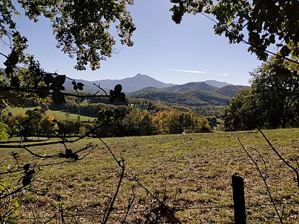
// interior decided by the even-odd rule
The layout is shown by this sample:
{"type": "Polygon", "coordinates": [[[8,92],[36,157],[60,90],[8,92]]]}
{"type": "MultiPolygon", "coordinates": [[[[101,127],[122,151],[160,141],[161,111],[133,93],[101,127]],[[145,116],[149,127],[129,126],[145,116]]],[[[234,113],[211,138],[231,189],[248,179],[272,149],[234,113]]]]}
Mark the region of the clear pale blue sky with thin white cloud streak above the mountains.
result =
{"type": "MultiPolygon", "coordinates": [[[[248,53],[248,46],[231,45],[224,36],[216,36],[214,22],[202,15],[185,15],[177,25],[171,19],[170,7],[167,0],[138,0],[129,6],[137,26],[132,38],[135,45],[128,48],[117,43],[119,52],[103,61],[97,71],[76,71],[75,60],[56,48],[45,19],[33,23],[21,16],[18,25],[28,38],[28,53],[35,55],[46,71],[57,70],[70,78],[122,79],[141,73],[174,84],[219,80],[248,85],[248,72],[261,65],[256,55],[248,53]]],[[[4,46],[0,50],[5,52],[4,46]]]]}

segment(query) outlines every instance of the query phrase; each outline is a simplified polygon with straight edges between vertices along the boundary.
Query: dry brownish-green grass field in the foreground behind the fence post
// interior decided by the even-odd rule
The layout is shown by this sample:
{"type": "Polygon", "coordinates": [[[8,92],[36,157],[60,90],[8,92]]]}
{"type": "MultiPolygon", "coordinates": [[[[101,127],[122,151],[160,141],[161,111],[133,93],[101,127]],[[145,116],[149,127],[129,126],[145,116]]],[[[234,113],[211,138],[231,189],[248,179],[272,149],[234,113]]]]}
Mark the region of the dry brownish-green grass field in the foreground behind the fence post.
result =
{"type": "MultiPolygon", "coordinates": [[[[297,166],[295,159],[299,159],[299,129],[268,130],[265,133],[284,158],[297,166]]],[[[273,154],[261,134],[214,132],[104,141],[117,159],[125,159],[125,175],[130,178],[136,176],[148,191],[172,208],[182,223],[234,223],[233,174],[245,179],[247,223],[278,223],[266,187],[237,138],[241,139],[264,172],[261,158],[254,149],[263,155],[267,164],[268,186],[280,213],[283,210],[284,223],[299,223],[299,188],[293,180],[295,174],[273,154]]],[[[53,220],[50,223],[59,223],[56,220],[59,213],[55,207],[60,203],[54,197],[58,193],[63,196],[61,203],[65,214],[74,215],[78,223],[100,223],[107,198],[115,193],[121,170],[107,148],[97,139],[83,139],[68,145],[68,148],[80,149],[89,142],[98,144],[98,147],[82,161],[56,166],[42,166],[47,161],[39,161],[41,171],[33,184],[35,188],[47,188],[49,196],[36,196],[28,191],[24,193],[26,197],[21,195],[21,223],[34,223],[31,219],[33,210],[38,223],[51,217],[53,220]]],[[[64,149],[62,146],[43,146],[35,150],[40,154],[55,154],[64,149]]],[[[5,160],[2,166],[13,164],[9,151],[11,149],[5,148],[0,151],[1,158],[5,160]]],[[[26,151],[14,151],[22,155],[19,161],[21,166],[28,161],[38,163],[38,159],[32,158],[26,151]]],[[[127,217],[130,223],[142,223],[146,208],[157,209],[150,207],[154,200],[144,188],[125,178],[110,223],[120,223],[124,217],[128,200],[133,195],[132,188],[135,201],[127,217]]]]}

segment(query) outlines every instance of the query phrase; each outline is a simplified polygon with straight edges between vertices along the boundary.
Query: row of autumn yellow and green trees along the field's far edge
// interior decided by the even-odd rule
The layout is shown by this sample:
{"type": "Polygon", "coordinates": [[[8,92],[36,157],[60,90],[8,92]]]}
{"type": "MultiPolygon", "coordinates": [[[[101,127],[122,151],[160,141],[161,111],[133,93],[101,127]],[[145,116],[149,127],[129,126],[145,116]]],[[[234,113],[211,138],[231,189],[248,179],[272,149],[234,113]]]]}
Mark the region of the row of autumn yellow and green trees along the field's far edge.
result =
{"type": "MultiPolygon", "coordinates": [[[[212,119],[213,120],[213,119],[212,119]]],[[[25,114],[2,117],[6,132],[10,137],[56,137],[83,136],[91,132],[93,137],[127,137],[154,134],[179,134],[211,132],[213,122],[197,116],[192,110],[159,110],[149,112],[135,107],[106,105],[98,112],[94,122],[58,120],[46,114],[46,110],[27,110],[25,114]],[[103,125],[102,125],[103,124],[103,125]]],[[[215,122],[215,121],[214,121],[215,122]]]]}

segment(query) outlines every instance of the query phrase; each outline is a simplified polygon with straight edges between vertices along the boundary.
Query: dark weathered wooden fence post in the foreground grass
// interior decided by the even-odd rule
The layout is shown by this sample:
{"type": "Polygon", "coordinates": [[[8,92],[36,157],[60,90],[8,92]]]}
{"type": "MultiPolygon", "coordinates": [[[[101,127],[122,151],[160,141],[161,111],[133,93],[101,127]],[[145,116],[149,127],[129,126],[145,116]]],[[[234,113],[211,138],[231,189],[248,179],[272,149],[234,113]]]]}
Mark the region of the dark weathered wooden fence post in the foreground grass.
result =
{"type": "Polygon", "coordinates": [[[241,176],[231,176],[234,199],[235,224],[246,224],[244,180],[241,176]]]}

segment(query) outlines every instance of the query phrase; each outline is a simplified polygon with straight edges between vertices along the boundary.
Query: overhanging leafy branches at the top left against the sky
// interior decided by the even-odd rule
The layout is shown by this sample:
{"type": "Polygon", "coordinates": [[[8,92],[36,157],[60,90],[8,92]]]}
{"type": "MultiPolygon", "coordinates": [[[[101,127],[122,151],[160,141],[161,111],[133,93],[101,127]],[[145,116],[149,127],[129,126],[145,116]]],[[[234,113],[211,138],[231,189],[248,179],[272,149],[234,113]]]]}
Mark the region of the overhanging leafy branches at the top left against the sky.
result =
{"type": "MultiPolygon", "coordinates": [[[[78,70],[85,70],[88,63],[93,70],[98,69],[100,60],[112,55],[115,37],[110,33],[111,25],[115,25],[122,44],[133,45],[131,37],[135,25],[126,8],[127,4],[132,4],[132,0],[18,2],[25,15],[34,22],[38,22],[38,16],[44,16],[51,21],[58,48],[70,57],[76,58],[75,68],[78,70]]],[[[1,1],[0,38],[2,41],[6,38],[14,53],[23,55],[27,39],[21,36],[18,24],[14,21],[14,16],[19,14],[20,12],[16,10],[16,1],[1,1]]]]}

